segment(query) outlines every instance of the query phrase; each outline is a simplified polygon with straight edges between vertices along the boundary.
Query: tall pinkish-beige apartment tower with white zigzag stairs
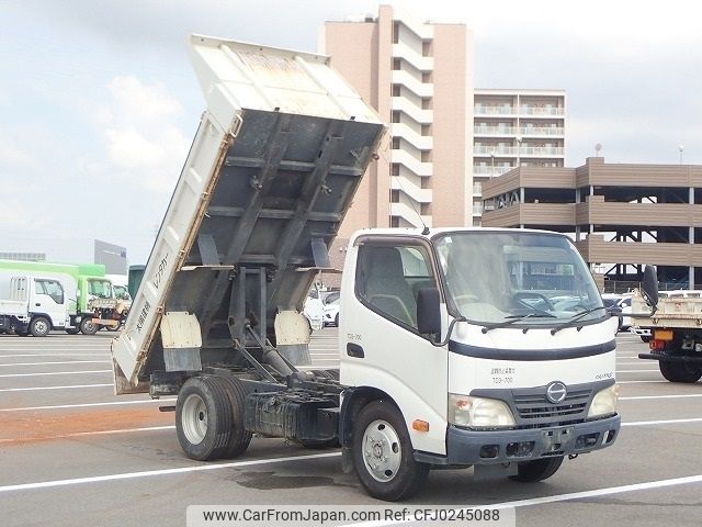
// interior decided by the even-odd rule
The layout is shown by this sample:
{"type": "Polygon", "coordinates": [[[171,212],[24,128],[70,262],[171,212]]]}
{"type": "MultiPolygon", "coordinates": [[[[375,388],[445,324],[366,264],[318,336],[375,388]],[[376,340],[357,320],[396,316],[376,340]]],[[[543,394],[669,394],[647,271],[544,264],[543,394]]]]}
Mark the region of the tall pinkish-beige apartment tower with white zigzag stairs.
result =
{"type": "Polygon", "coordinates": [[[390,125],[341,226],[469,225],[472,34],[381,5],[377,16],[327,22],[320,52],[390,125]]]}

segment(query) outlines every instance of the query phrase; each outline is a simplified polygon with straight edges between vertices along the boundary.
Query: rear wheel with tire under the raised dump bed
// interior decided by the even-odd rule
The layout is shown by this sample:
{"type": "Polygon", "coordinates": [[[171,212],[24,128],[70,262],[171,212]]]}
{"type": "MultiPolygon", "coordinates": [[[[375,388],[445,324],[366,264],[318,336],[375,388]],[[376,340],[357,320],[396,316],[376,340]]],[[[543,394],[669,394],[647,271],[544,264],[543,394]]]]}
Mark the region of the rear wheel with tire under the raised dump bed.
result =
{"type": "Polygon", "coordinates": [[[231,403],[217,379],[191,377],[178,393],[176,431],[190,459],[206,461],[227,453],[231,403]]]}

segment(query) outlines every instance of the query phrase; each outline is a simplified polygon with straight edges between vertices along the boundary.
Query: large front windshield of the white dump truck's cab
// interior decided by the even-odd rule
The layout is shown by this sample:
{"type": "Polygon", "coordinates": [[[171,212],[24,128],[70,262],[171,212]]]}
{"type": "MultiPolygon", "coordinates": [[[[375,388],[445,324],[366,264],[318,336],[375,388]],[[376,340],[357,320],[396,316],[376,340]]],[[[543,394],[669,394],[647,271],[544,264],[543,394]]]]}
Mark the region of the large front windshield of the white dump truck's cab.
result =
{"type": "Polygon", "coordinates": [[[563,236],[475,231],[435,246],[446,292],[468,321],[554,326],[605,315],[587,265],[563,236]]]}

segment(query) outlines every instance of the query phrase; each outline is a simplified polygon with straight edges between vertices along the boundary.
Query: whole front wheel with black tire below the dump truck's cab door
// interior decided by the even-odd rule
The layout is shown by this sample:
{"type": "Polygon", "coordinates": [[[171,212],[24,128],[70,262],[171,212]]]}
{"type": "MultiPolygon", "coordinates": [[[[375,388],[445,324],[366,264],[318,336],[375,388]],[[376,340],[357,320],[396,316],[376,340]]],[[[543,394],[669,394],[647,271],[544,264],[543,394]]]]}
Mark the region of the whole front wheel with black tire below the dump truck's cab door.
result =
{"type": "Polygon", "coordinates": [[[415,461],[405,419],[394,404],[373,401],[361,408],[351,448],[361,485],[373,497],[406,500],[427,481],[430,467],[415,461]]]}

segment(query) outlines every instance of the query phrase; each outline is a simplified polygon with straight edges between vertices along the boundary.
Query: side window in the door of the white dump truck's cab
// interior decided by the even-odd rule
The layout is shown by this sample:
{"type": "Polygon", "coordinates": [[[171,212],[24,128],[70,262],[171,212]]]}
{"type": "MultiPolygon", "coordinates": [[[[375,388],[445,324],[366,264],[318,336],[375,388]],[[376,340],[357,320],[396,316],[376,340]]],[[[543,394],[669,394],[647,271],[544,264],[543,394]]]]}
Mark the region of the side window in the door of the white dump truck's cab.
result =
{"type": "Polygon", "coordinates": [[[355,280],[359,299],[414,328],[419,289],[435,287],[429,254],[419,245],[362,245],[355,280]]]}

